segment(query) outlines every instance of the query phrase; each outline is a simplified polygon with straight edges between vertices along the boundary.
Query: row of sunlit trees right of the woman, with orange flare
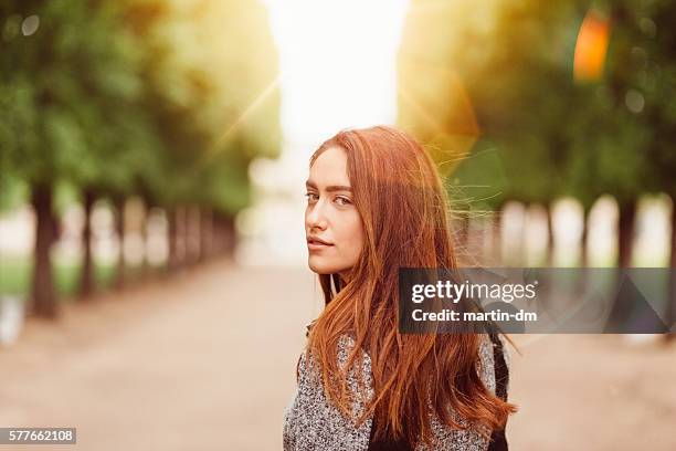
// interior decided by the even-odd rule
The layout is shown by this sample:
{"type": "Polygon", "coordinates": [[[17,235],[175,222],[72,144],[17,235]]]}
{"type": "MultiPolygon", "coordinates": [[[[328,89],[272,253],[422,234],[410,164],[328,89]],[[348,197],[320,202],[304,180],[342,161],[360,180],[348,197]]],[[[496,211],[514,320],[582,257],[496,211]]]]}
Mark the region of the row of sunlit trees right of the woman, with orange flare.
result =
{"type": "MultiPolygon", "coordinates": [[[[638,198],[676,199],[675,21],[666,0],[413,0],[399,123],[436,149],[452,197],[472,208],[570,196],[588,216],[613,196],[629,266],[638,198]],[[585,57],[604,71],[579,76],[585,57]]],[[[676,208],[672,222],[676,266],[676,208]]]]}

